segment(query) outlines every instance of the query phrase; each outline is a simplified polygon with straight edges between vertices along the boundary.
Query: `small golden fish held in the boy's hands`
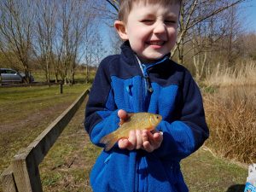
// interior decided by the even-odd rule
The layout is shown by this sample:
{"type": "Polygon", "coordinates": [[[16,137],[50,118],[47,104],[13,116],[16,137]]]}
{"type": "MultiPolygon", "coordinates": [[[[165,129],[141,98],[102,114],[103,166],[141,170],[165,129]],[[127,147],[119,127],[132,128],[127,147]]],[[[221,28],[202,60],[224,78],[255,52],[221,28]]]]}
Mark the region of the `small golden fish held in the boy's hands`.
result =
{"type": "Polygon", "coordinates": [[[162,116],[155,113],[128,113],[128,119],[121,120],[116,131],[102,137],[100,143],[105,144],[105,151],[113,148],[113,145],[121,138],[128,138],[131,130],[153,131],[160,124],[162,116]]]}

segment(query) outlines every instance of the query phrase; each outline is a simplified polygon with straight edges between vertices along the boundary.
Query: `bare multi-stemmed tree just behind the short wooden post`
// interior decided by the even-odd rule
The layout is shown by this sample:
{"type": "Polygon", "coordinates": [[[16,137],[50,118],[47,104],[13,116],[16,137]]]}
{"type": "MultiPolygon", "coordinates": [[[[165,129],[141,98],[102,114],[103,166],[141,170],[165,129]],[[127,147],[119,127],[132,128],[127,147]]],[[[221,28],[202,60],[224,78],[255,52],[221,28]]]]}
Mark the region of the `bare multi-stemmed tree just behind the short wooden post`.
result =
{"type": "Polygon", "coordinates": [[[93,20],[89,1],[65,0],[61,6],[61,79],[65,84],[73,83],[74,72],[79,61],[86,28],[93,20]]]}

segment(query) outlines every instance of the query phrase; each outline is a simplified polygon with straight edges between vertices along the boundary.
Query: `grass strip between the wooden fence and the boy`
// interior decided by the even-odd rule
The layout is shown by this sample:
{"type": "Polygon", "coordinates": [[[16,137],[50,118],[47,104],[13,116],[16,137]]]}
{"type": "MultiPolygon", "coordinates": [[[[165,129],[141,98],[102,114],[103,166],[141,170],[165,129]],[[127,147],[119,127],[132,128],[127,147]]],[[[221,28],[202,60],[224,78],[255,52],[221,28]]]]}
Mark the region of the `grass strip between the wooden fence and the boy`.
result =
{"type": "Polygon", "coordinates": [[[84,131],[84,104],[39,167],[44,191],[91,191],[89,172],[101,149],[84,131]]]}

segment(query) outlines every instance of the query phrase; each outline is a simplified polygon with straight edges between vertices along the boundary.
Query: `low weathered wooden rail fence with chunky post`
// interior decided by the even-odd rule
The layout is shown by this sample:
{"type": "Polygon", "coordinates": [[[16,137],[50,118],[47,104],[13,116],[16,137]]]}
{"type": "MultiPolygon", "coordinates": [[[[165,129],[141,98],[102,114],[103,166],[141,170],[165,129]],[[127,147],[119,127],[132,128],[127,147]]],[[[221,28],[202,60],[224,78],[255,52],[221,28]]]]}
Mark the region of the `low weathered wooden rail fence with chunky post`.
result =
{"type": "Polygon", "coordinates": [[[29,146],[15,154],[11,165],[1,175],[3,192],[43,191],[38,165],[44,160],[49,148],[61,135],[74,113],[84,102],[89,90],[85,90],[66,111],[55,119],[29,146]]]}

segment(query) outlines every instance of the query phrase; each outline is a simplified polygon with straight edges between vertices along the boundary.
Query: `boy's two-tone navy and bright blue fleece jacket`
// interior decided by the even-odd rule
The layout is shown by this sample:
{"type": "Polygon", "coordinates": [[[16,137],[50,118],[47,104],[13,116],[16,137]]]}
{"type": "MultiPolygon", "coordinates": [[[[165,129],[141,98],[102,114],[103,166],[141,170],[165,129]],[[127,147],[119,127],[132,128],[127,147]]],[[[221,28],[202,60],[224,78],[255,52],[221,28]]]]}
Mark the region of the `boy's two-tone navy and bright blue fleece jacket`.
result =
{"type": "Polygon", "coordinates": [[[159,113],[160,148],[152,153],[114,146],[102,150],[90,172],[93,191],[188,191],[179,162],[200,148],[209,135],[201,92],[189,71],[168,58],[141,65],[129,42],[120,55],[105,58],[96,73],[86,106],[85,130],[104,147],[102,137],[119,127],[117,112],[159,113]]]}

